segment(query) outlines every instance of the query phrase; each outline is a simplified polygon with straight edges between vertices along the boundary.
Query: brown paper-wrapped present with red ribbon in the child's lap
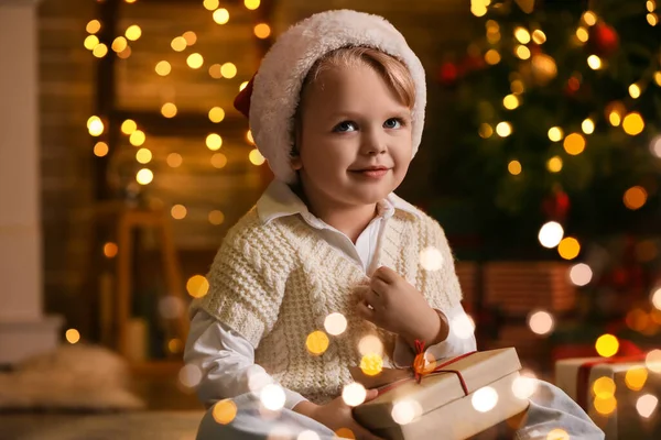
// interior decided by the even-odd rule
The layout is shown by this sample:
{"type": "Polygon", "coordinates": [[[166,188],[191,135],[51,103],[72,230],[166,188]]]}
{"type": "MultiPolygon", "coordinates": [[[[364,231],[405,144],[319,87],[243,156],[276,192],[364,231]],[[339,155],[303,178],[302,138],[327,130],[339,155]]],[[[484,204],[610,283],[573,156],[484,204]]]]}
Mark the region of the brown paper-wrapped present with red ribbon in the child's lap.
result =
{"type": "Polygon", "coordinates": [[[388,440],[438,438],[440,432],[444,439],[466,439],[525,411],[529,400],[512,391],[519,370],[511,348],[418,364],[354,408],[354,417],[388,440]]]}

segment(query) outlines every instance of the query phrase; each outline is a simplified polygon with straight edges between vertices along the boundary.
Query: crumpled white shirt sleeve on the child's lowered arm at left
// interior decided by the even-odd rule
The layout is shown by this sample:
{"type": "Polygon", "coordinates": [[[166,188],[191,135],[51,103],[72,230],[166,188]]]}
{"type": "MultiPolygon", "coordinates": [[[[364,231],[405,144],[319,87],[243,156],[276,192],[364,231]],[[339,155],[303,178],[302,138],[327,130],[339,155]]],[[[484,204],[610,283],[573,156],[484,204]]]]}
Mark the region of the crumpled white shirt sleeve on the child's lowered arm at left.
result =
{"type": "MultiPolygon", "coordinates": [[[[261,376],[259,383],[263,385],[273,382],[264,369],[254,364],[252,344],[202,309],[191,319],[184,362],[199,369],[197,396],[207,407],[217,400],[250,393],[252,376],[261,376]]],[[[284,394],[288,409],[306,400],[291,389],[284,388],[284,394]]]]}

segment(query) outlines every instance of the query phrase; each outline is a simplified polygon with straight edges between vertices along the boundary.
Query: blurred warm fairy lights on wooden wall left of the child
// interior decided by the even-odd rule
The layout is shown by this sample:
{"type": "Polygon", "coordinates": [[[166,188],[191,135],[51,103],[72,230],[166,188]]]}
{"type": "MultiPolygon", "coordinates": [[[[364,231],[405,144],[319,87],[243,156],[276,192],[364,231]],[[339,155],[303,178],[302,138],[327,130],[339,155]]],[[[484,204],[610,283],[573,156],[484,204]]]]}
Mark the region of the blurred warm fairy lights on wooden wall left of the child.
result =
{"type": "MultiPolygon", "coordinates": [[[[126,3],[136,3],[138,0],[124,0],[126,3]]],[[[260,7],[260,0],[245,0],[243,6],[246,9],[250,11],[256,11],[260,7]]],[[[218,25],[225,25],[230,21],[230,13],[226,8],[220,8],[220,3],[218,0],[204,0],[203,7],[212,13],[212,18],[214,22],[218,25]]],[[[84,41],[84,46],[91,52],[91,54],[97,58],[102,58],[105,56],[117,56],[121,59],[127,59],[132,55],[131,44],[139,41],[142,36],[142,29],[138,24],[129,25],[124,31],[123,35],[118,35],[115,37],[112,43],[110,44],[110,48],[100,42],[97,33],[101,30],[102,23],[99,20],[91,20],[86,25],[86,32],[88,35],[84,41]]],[[[268,38],[271,35],[271,26],[268,23],[257,23],[253,26],[253,34],[258,38],[268,38]]],[[[177,35],[172,38],[170,46],[175,53],[184,53],[185,51],[191,51],[187,54],[185,64],[191,69],[201,69],[205,65],[205,58],[203,54],[198,52],[193,52],[193,46],[197,43],[197,34],[194,31],[186,31],[182,35],[177,35]]],[[[154,73],[160,77],[169,76],[173,70],[173,65],[176,65],[175,62],[171,62],[167,59],[162,59],[156,63],[154,66],[154,73]]],[[[224,80],[232,80],[237,77],[238,69],[237,66],[231,62],[226,62],[223,64],[212,64],[208,67],[208,75],[214,79],[224,79],[224,80]]],[[[248,85],[248,81],[242,81],[238,85],[238,90],[242,90],[248,85]]],[[[176,118],[178,109],[175,102],[164,102],[161,106],[160,112],[163,118],[172,119],[176,118]]],[[[219,107],[213,107],[208,110],[208,119],[213,123],[219,123],[225,119],[226,112],[219,107]]],[[[106,125],[104,123],[104,118],[99,116],[91,116],[87,121],[87,129],[91,136],[99,138],[106,131],[106,125]]],[[[152,151],[145,146],[148,142],[147,133],[143,130],[140,130],[137,121],[131,119],[127,119],[121,123],[121,133],[129,139],[129,143],[136,146],[138,150],[136,151],[136,162],[140,165],[143,165],[136,173],[136,182],[140,185],[149,185],[154,179],[153,170],[148,166],[153,160],[152,151]]],[[[213,167],[217,169],[221,169],[227,165],[227,156],[219,152],[223,146],[223,136],[219,133],[213,132],[208,133],[205,139],[206,147],[214,152],[210,156],[209,163],[213,167]]],[[[250,130],[246,132],[246,142],[252,146],[254,146],[254,140],[250,130]]],[[[109,153],[109,145],[99,141],[94,145],[93,152],[98,157],[104,157],[109,153]]],[[[170,153],[165,162],[172,167],[176,168],[183,164],[184,157],[180,153],[170,153]]],[[[256,165],[262,165],[266,160],[259,153],[259,151],[253,147],[248,154],[248,161],[256,165]]],[[[186,217],[186,208],[183,205],[174,205],[171,209],[171,215],[176,220],[182,220],[186,217]]],[[[209,212],[208,220],[212,224],[221,224],[224,222],[225,216],[221,211],[213,210],[209,212]]]]}

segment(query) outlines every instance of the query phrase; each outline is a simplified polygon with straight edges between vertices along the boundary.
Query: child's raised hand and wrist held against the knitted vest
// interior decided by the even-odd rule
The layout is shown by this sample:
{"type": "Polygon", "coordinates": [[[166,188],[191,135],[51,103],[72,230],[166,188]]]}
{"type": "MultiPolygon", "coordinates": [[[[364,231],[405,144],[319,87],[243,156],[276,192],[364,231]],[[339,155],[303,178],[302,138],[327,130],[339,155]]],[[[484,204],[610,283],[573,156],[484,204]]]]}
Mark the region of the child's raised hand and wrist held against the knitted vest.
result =
{"type": "Polygon", "coordinates": [[[446,323],[424,296],[398,273],[379,267],[368,285],[358,286],[358,315],[376,326],[404,338],[414,346],[419,339],[431,345],[445,334],[446,323]]]}

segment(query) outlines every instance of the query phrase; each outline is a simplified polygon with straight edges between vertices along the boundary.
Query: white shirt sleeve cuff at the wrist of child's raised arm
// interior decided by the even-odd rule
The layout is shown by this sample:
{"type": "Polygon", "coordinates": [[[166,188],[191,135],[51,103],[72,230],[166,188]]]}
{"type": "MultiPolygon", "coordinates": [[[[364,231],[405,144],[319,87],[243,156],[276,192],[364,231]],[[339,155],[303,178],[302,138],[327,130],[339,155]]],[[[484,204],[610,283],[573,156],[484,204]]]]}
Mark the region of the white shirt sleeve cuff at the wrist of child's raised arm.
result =
{"type": "MultiPolygon", "coordinates": [[[[442,310],[447,317],[447,322],[449,324],[449,332],[447,333],[447,338],[445,341],[442,341],[435,345],[430,345],[425,350],[425,354],[427,356],[432,356],[435,360],[442,360],[446,358],[454,358],[465,353],[469,353],[472,351],[477,350],[477,343],[475,340],[475,333],[470,332],[468,338],[464,338],[464,332],[457,332],[456,329],[453,330],[453,323],[456,326],[457,322],[464,320],[464,316],[466,311],[464,307],[459,304],[448,310],[442,310]]],[[[398,337],[394,344],[394,364],[398,367],[411,366],[413,364],[413,360],[415,359],[415,353],[409,346],[407,341],[398,337]]]]}

